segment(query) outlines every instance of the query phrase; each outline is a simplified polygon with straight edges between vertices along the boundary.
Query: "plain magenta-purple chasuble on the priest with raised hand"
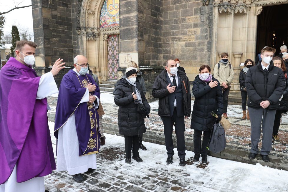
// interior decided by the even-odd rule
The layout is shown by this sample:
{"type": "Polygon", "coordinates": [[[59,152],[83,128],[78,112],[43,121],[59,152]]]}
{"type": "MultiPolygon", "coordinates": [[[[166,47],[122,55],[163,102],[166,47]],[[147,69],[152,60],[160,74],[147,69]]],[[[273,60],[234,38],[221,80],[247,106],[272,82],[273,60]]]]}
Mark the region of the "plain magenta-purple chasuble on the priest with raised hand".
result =
{"type": "Polygon", "coordinates": [[[0,184],[17,163],[17,182],[56,169],[47,121],[47,98],[36,99],[40,77],[10,57],[0,70],[0,184]]]}

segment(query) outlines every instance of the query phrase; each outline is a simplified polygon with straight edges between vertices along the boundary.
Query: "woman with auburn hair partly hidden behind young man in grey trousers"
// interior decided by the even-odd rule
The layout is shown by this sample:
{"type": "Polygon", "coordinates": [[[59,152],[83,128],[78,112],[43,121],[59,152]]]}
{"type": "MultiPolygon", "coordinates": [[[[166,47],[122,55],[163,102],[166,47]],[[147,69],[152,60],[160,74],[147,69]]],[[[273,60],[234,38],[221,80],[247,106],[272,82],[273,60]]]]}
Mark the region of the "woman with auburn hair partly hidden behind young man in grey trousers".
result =
{"type": "Polygon", "coordinates": [[[282,113],[288,111],[288,79],[287,79],[287,69],[286,69],[286,66],[284,64],[283,59],[281,59],[280,57],[274,57],[272,59],[272,61],[273,61],[275,67],[279,67],[282,69],[282,71],[284,73],[284,78],[285,78],[284,80],[286,82],[286,88],[283,92],[283,97],[282,97],[281,101],[279,101],[280,107],[276,110],[274,125],[273,125],[273,132],[272,132],[272,141],[274,143],[280,143],[280,140],[278,137],[280,119],[281,119],[282,113]]]}

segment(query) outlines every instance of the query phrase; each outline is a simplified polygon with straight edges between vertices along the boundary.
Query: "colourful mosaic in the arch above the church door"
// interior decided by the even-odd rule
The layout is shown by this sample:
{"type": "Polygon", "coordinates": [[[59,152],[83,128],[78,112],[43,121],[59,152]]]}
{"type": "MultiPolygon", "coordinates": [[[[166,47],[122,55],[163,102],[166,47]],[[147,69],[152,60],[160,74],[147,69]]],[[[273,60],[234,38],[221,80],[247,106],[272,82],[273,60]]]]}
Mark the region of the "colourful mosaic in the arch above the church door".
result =
{"type": "Polygon", "coordinates": [[[100,14],[100,27],[119,26],[119,0],[105,0],[100,14]]]}

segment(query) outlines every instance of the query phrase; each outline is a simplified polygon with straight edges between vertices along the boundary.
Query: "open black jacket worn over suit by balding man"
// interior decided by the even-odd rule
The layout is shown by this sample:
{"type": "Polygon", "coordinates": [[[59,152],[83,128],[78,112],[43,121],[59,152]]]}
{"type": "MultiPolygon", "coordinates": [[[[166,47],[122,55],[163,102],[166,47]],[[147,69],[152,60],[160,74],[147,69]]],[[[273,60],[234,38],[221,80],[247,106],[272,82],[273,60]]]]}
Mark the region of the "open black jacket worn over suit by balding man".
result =
{"type": "MultiPolygon", "coordinates": [[[[190,117],[191,115],[191,93],[190,93],[190,84],[189,79],[186,76],[186,73],[183,71],[177,72],[180,76],[181,85],[182,85],[182,93],[183,93],[183,109],[184,109],[184,115],[190,117]]],[[[152,95],[155,98],[159,98],[159,110],[158,115],[159,116],[170,116],[170,110],[169,110],[169,103],[168,103],[168,97],[169,97],[169,91],[167,89],[167,85],[169,83],[167,82],[166,78],[167,70],[164,69],[154,80],[154,84],[152,87],[152,95]]],[[[172,86],[172,85],[171,85],[172,86]]]]}

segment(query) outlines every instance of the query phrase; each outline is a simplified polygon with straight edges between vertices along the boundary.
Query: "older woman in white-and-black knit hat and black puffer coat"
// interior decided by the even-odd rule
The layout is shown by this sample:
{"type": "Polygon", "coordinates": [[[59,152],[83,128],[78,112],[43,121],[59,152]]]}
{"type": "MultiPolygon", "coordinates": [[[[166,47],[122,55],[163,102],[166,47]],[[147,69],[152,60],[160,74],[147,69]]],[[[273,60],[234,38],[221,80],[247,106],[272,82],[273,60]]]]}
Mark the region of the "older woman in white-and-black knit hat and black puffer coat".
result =
{"type": "Polygon", "coordinates": [[[118,81],[115,88],[114,102],[119,106],[118,126],[119,133],[125,138],[125,163],[131,163],[131,148],[133,156],[137,162],[143,160],[139,156],[139,135],[146,132],[144,118],[150,112],[150,105],[141,90],[141,86],[136,82],[136,69],[128,67],[126,77],[118,81]],[[144,109],[138,112],[138,105],[143,105],[144,109]]]}

